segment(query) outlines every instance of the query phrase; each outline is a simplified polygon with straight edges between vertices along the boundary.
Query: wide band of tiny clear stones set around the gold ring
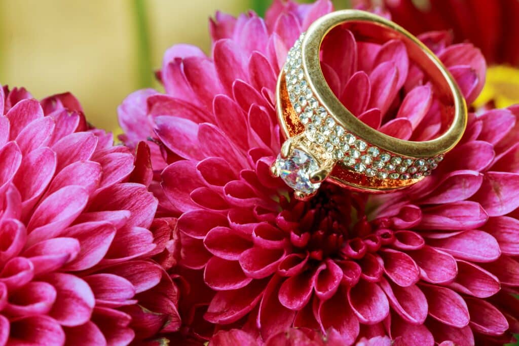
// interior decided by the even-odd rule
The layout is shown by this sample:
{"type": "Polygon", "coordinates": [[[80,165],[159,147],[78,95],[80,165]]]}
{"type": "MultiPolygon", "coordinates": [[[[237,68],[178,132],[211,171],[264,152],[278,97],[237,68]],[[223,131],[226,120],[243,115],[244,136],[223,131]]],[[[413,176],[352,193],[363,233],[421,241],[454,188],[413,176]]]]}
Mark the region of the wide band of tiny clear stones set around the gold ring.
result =
{"type": "Polygon", "coordinates": [[[381,179],[418,179],[438,167],[443,155],[418,159],[396,156],[357,138],[338,124],[308,85],[303,71],[303,38],[304,33],[289,50],[284,65],[286,90],[299,120],[305,125],[306,137],[324,148],[322,159],[333,158],[357,173],[381,179]]]}

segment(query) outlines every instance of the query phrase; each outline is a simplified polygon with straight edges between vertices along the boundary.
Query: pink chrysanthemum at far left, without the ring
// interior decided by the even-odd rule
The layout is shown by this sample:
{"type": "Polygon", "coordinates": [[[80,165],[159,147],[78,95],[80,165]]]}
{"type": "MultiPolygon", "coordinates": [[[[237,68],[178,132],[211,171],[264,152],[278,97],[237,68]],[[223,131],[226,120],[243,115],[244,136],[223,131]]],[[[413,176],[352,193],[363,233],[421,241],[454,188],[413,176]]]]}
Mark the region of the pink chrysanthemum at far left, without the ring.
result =
{"type": "Polygon", "coordinates": [[[0,345],[127,345],[179,328],[176,286],[150,259],[171,228],[154,221],[143,171],[71,94],[0,87],[0,345]]]}

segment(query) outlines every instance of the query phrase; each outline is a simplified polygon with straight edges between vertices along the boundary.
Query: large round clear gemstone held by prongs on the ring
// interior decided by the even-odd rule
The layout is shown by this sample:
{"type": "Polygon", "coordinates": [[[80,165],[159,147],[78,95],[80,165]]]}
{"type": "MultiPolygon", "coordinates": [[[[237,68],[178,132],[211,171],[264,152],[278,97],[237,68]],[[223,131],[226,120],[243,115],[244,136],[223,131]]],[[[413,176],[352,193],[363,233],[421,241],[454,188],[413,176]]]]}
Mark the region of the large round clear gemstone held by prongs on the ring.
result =
{"type": "Polygon", "coordinates": [[[276,169],[286,185],[296,191],[313,193],[321,183],[312,183],[310,173],[319,171],[319,164],[301,149],[292,150],[292,155],[286,159],[278,156],[276,169]]]}

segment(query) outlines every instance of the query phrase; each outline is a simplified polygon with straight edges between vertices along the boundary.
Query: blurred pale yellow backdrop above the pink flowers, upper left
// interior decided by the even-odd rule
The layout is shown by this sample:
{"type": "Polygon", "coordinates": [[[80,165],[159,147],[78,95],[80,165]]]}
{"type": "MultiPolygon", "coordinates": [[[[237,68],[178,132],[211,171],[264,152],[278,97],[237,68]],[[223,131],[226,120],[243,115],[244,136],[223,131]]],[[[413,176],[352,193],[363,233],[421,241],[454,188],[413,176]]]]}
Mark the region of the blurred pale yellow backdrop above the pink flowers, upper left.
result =
{"type": "MultiPolygon", "coordinates": [[[[0,1],[0,82],[36,98],[73,90],[96,127],[116,130],[130,92],[159,88],[152,71],[173,44],[209,51],[216,10],[263,15],[270,0],[0,1]]],[[[348,0],[336,1],[345,8],[348,0]]]]}

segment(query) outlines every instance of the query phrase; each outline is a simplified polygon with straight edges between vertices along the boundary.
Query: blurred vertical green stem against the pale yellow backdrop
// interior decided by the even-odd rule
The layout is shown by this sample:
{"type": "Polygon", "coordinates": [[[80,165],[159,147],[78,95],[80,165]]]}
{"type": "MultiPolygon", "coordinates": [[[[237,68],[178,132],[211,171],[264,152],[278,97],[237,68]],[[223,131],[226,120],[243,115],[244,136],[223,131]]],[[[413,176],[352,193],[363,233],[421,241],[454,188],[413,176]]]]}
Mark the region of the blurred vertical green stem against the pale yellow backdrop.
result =
{"type": "Polygon", "coordinates": [[[136,40],[136,74],[138,87],[147,88],[153,85],[153,67],[151,44],[149,42],[148,13],[145,0],[132,1],[133,20],[136,40]]]}

